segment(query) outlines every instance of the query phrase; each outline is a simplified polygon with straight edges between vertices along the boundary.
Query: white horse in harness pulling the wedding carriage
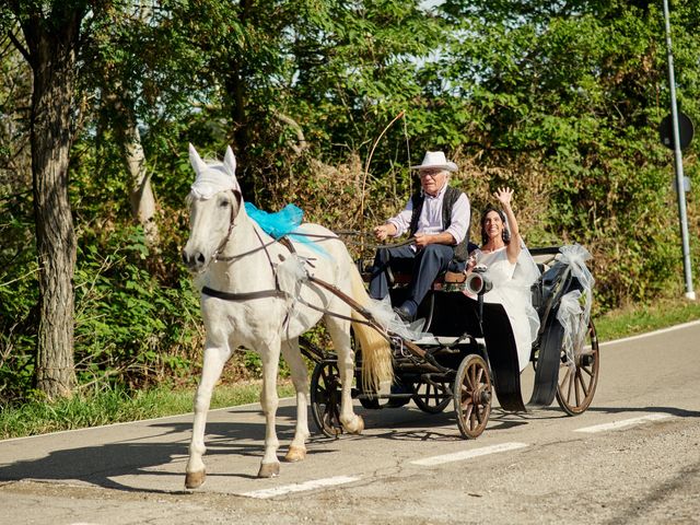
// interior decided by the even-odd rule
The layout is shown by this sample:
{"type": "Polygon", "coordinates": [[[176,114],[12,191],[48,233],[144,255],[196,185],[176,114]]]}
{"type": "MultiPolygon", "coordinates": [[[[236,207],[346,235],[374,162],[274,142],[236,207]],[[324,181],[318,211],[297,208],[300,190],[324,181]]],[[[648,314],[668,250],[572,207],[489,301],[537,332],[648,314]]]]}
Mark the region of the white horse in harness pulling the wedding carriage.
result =
{"type": "MultiPolygon", "coordinates": [[[[188,197],[190,236],[183,249],[183,259],[206,285],[201,311],[207,331],[185,479],[185,486],[192,489],[206,479],[202,455],[212,389],[224,363],[240,347],[257,351],[262,361],[260,404],[267,429],[258,477],[277,476],[280,468],[275,429],[280,350],[289,363],[296,389],[298,413],[294,439],[284,459],[298,462],[306,456],[308,380],[299,336],[322,317],[338,355],[342,383],[340,422],[347,432],[357,434],[364,429],[364,422],[352,409],[350,387],[354,354],[348,320],[362,317],[335,293],[308,280],[298,282],[295,294],[280,289],[279,265],[295,255],[267,235],[246,213],[231,148],[226,149],[223,163],[206,163],[190,144],[189,159],[197,179],[188,197]],[[220,299],[214,296],[221,295],[217,292],[229,296],[220,299]]],[[[296,254],[302,257],[298,260],[306,260],[304,269],[308,275],[335,285],[362,305],[370,304],[360,273],[346,246],[332,232],[317,224],[303,224],[296,232],[317,236],[313,246],[308,242],[293,243],[296,254]]],[[[365,324],[353,322],[352,327],[361,345],[363,369],[369,369],[363,370],[369,382],[364,384],[376,385],[390,378],[390,350],[386,339],[365,324]]]]}

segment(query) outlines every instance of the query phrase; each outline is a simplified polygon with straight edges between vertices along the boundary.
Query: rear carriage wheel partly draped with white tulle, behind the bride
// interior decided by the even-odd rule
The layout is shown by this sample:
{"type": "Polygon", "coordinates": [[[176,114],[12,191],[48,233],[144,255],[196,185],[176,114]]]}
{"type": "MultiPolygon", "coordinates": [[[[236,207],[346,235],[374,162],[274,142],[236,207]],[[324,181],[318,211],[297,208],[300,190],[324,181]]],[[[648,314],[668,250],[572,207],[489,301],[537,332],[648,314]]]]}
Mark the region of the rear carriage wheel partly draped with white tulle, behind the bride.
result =
{"type": "Polygon", "coordinates": [[[573,368],[565,363],[565,355],[562,351],[559,384],[557,385],[557,402],[569,416],[578,416],[586,411],[591,406],[591,401],[593,401],[595,388],[598,384],[600,352],[598,351],[598,338],[595,334],[593,320],[588,323],[587,339],[591,349],[579,353],[573,368]]]}

